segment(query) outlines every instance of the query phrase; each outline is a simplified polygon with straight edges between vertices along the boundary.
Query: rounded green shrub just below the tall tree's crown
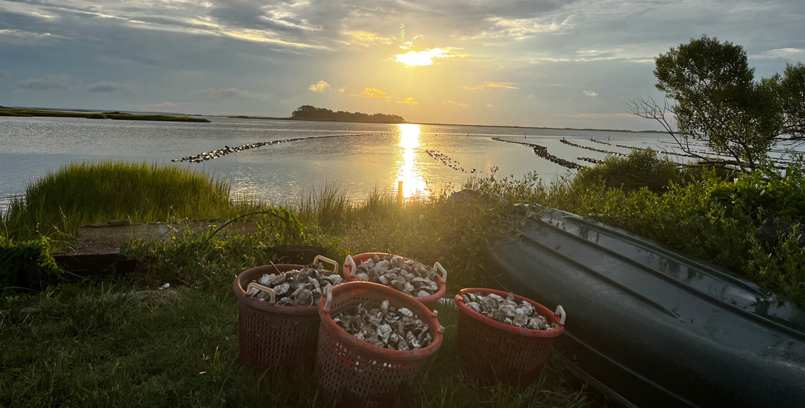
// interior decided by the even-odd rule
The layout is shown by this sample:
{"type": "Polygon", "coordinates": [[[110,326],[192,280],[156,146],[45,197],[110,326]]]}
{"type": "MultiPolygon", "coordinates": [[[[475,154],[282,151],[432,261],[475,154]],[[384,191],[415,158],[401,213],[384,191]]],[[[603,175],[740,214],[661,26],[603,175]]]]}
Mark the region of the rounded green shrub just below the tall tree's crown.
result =
{"type": "Polygon", "coordinates": [[[634,191],[646,187],[661,193],[670,181],[679,183],[683,177],[679,164],[660,159],[651,149],[635,149],[629,156],[609,156],[604,163],[581,170],[573,182],[588,185],[598,181],[609,188],[634,191]]]}

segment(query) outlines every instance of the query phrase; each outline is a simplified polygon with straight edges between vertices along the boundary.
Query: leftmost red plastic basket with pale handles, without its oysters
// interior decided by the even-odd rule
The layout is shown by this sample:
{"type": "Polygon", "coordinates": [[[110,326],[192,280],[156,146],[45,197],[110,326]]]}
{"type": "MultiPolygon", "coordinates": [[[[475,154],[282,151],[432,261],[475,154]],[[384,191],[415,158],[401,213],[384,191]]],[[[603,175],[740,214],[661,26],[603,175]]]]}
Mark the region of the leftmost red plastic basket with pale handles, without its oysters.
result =
{"type": "MultiPolygon", "coordinates": [[[[324,260],[316,256],[314,263],[324,260]]],[[[316,343],[319,338],[319,307],[281,306],[250,296],[263,274],[275,274],[303,268],[300,264],[275,264],[247,269],[235,278],[233,289],[237,297],[238,356],[251,368],[262,371],[280,367],[287,370],[311,370],[316,362],[316,343]]],[[[259,285],[258,285],[259,286],[259,285]]]]}

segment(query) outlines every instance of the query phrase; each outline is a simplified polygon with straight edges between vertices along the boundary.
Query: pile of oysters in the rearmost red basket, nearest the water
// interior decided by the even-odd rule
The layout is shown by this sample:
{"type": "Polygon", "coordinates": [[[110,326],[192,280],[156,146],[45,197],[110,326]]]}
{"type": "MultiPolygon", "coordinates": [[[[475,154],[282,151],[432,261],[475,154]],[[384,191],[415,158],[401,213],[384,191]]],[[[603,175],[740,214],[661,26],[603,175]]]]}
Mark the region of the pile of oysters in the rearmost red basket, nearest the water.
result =
{"type": "Polygon", "coordinates": [[[357,265],[354,272],[358,281],[379,283],[397,289],[415,298],[431,296],[439,291],[436,271],[415,260],[399,256],[374,255],[357,265]]]}

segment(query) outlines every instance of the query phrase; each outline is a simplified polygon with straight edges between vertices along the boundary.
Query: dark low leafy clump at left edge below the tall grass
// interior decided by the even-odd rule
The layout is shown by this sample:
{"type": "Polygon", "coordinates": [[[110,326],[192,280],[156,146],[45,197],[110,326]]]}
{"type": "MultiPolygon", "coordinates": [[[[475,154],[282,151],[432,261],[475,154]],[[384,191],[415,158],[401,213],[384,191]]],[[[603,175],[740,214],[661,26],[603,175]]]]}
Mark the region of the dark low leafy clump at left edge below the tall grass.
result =
{"type": "Polygon", "coordinates": [[[62,274],[50,255],[49,239],[14,243],[0,235],[0,293],[42,289],[59,281],[62,274]]]}

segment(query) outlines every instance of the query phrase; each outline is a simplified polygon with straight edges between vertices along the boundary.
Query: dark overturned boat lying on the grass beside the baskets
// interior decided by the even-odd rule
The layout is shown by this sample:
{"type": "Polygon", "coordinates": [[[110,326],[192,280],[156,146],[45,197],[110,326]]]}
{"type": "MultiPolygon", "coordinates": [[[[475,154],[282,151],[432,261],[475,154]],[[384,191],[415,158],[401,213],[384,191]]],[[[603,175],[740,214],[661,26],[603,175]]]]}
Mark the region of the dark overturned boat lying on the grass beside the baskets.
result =
{"type": "Polygon", "coordinates": [[[568,310],[559,360],[623,406],[805,406],[805,308],[650,239],[530,210],[504,289],[568,310]]]}

